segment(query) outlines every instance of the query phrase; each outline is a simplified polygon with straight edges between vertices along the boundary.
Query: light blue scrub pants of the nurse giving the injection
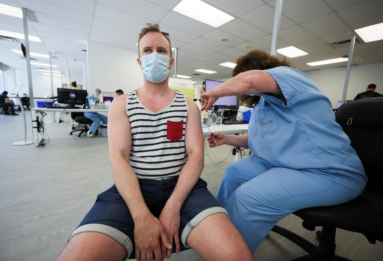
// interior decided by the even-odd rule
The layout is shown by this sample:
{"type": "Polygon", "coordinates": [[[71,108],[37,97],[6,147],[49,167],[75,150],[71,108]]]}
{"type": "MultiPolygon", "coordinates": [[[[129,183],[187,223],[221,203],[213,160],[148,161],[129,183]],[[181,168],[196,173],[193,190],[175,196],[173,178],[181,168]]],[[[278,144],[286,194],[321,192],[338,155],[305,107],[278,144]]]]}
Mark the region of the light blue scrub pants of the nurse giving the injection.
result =
{"type": "Polygon", "coordinates": [[[269,168],[251,155],[226,168],[216,198],[254,253],[287,215],[308,207],[342,204],[359,194],[313,172],[269,168]]]}

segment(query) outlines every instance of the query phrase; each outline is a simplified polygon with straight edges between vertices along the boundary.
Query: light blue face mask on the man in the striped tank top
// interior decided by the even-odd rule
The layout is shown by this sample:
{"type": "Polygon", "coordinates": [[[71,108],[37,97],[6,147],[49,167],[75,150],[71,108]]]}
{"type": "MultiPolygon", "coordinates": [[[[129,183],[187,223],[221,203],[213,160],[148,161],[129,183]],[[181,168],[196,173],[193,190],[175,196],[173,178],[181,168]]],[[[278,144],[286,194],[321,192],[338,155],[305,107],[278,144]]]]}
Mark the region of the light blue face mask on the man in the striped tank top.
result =
{"type": "Polygon", "coordinates": [[[153,52],[141,57],[142,73],[152,83],[164,82],[169,75],[169,56],[153,52]]]}

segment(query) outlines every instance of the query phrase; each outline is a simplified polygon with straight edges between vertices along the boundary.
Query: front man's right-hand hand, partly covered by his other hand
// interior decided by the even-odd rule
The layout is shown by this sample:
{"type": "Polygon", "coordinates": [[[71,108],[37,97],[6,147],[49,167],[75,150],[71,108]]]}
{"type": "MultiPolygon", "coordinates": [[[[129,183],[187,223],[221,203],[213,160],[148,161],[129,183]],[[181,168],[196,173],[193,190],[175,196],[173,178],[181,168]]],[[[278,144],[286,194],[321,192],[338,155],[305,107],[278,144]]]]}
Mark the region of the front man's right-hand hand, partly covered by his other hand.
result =
{"type": "MultiPolygon", "coordinates": [[[[166,234],[173,243],[175,241],[175,252],[180,253],[180,237],[178,236],[178,230],[180,229],[181,214],[180,210],[175,210],[165,205],[162,209],[160,217],[158,218],[161,224],[164,226],[166,234]]],[[[161,244],[162,256],[167,258],[172,256],[172,248],[166,249],[164,243],[161,244]]]]}

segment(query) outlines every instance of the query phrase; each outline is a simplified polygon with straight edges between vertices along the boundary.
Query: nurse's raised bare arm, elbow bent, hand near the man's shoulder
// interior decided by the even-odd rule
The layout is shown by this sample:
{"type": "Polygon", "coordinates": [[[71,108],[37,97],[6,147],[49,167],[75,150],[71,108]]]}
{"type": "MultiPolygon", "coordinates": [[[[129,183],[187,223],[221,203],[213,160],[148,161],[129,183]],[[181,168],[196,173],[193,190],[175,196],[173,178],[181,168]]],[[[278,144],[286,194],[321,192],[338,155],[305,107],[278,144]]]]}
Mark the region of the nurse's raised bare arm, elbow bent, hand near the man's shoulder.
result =
{"type": "Polygon", "coordinates": [[[274,93],[275,95],[282,95],[278,83],[268,72],[263,70],[250,70],[242,72],[210,91],[202,93],[200,97],[204,106],[201,111],[207,111],[218,98],[254,93],[274,93]]]}

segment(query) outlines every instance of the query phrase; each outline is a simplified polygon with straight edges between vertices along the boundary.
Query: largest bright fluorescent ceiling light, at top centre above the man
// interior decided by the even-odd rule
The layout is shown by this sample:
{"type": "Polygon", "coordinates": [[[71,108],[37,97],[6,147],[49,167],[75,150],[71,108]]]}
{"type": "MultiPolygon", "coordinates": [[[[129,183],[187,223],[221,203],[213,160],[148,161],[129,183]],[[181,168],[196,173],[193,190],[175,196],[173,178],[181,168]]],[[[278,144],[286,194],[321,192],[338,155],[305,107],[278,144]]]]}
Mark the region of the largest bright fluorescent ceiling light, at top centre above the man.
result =
{"type": "Polygon", "coordinates": [[[235,18],[201,0],[182,0],[173,11],[215,28],[235,18]]]}

